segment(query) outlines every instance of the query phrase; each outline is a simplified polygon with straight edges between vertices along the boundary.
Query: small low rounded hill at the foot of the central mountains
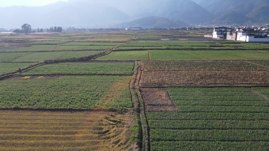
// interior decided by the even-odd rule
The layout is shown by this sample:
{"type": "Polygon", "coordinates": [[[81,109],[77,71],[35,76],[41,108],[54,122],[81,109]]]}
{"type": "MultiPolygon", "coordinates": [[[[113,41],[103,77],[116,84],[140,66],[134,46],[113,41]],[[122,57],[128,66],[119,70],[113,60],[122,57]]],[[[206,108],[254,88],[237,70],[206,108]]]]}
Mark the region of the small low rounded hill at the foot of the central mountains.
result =
{"type": "Polygon", "coordinates": [[[187,27],[189,24],[170,20],[163,17],[145,17],[129,23],[125,23],[126,27],[143,27],[143,28],[177,28],[177,27],[187,27]]]}

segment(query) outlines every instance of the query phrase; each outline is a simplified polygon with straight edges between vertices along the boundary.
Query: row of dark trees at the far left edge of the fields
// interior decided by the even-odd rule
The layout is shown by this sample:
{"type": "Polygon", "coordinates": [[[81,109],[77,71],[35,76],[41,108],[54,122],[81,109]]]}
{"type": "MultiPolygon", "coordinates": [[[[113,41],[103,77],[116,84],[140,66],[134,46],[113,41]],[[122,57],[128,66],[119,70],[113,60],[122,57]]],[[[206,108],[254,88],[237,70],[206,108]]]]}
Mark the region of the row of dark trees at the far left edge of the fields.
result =
{"type": "MultiPolygon", "coordinates": [[[[41,28],[41,29],[37,28],[37,30],[32,30],[32,26],[31,25],[24,24],[24,25],[22,25],[22,29],[21,30],[20,29],[16,29],[13,32],[14,33],[29,34],[29,33],[35,33],[35,32],[42,33],[43,31],[44,31],[43,28],[41,28]]],[[[51,26],[49,29],[47,28],[46,31],[47,32],[50,32],[50,33],[61,33],[63,31],[63,28],[62,27],[57,27],[57,26],[55,26],[55,27],[52,27],[51,26]]]]}

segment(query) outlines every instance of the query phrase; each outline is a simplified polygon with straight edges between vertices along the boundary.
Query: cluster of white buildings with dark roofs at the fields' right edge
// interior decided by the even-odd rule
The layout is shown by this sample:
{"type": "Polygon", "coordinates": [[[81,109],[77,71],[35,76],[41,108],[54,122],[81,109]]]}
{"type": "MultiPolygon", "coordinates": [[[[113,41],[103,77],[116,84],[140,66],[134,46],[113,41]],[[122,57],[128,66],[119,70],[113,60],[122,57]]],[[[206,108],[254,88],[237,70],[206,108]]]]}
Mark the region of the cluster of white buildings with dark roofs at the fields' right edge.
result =
{"type": "Polygon", "coordinates": [[[216,27],[212,35],[204,35],[209,38],[227,39],[245,42],[269,42],[267,28],[227,28],[216,27]]]}

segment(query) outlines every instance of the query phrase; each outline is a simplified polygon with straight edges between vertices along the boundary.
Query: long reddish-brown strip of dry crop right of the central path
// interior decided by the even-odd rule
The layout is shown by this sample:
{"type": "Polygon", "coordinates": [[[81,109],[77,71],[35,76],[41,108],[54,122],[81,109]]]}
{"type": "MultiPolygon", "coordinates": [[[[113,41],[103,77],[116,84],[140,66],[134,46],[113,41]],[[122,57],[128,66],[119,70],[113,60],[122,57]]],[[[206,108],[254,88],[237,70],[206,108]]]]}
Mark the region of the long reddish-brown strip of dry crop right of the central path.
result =
{"type": "Polygon", "coordinates": [[[143,70],[142,86],[269,86],[266,69],[143,70]]]}

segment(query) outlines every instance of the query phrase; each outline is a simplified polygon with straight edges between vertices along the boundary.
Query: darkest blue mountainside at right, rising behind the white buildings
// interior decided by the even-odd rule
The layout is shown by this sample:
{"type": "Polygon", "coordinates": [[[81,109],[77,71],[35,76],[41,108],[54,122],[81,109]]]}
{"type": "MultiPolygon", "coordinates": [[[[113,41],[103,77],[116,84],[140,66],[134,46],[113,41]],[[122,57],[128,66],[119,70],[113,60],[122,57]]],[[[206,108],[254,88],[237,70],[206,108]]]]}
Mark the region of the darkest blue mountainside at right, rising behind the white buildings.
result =
{"type": "Polygon", "coordinates": [[[269,21],[269,1],[267,0],[217,0],[211,3],[207,10],[217,16],[211,23],[241,24],[248,21],[254,23],[269,21]]]}

